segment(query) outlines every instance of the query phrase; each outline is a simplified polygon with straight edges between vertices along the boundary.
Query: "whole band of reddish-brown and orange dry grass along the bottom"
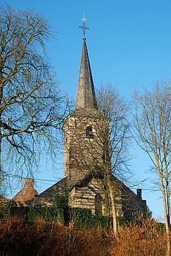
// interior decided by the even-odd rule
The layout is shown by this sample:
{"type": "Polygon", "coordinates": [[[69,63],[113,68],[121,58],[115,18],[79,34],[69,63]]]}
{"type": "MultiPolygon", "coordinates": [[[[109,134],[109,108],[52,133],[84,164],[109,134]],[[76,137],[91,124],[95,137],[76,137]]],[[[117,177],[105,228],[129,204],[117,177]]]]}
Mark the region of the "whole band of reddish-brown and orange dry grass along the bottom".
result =
{"type": "Polygon", "coordinates": [[[41,219],[16,216],[0,223],[1,256],[162,256],[165,250],[165,231],[157,222],[122,227],[116,240],[100,228],[60,227],[41,219]]]}

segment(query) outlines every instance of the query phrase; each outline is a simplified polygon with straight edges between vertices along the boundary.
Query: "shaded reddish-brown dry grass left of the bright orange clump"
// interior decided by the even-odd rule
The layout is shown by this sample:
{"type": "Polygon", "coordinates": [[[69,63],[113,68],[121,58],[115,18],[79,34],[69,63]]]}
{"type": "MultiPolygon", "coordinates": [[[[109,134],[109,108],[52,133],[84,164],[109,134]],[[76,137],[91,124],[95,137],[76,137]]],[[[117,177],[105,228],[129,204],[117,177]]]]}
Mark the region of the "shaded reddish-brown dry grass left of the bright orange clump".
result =
{"type": "Polygon", "coordinates": [[[104,256],[110,245],[102,230],[64,228],[41,219],[9,218],[0,226],[1,256],[104,256]]]}

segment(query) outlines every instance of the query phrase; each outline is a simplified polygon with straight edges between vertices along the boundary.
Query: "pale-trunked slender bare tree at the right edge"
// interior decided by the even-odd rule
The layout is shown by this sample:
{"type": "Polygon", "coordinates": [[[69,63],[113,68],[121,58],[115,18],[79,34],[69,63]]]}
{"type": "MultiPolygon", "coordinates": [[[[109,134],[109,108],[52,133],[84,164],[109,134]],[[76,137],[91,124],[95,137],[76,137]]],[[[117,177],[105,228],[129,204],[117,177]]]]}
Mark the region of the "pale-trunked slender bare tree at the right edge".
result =
{"type": "Polygon", "coordinates": [[[171,87],[170,81],[156,83],[152,91],[134,92],[134,138],[149,155],[158,174],[170,255],[170,162],[171,162],[171,87]]]}

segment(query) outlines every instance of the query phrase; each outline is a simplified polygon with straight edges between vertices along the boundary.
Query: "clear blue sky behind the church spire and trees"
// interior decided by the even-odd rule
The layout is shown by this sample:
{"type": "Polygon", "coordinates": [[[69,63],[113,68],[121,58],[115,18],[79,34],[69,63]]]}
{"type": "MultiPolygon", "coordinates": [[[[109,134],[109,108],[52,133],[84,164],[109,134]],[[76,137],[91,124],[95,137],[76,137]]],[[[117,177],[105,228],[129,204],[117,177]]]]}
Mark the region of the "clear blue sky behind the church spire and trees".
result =
{"type": "MultiPolygon", "coordinates": [[[[48,44],[48,53],[61,81],[61,88],[75,97],[82,51],[83,13],[87,18],[86,43],[93,81],[111,83],[125,99],[131,100],[133,88],[152,88],[159,79],[170,79],[171,72],[171,1],[170,0],[6,0],[14,8],[40,11],[55,32],[57,40],[48,44]]],[[[132,153],[132,169],[138,179],[151,179],[149,159],[136,146],[132,153]]],[[[50,169],[50,168],[49,168],[50,169]]],[[[39,179],[62,177],[62,168],[51,173],[42,166],[39,179]]],[[[54,182],[37,181],[39,192],[54,182]]],[[[154,217],[163,217],[160,193],[143,186],[143,199],[154,217]]],[[[151,188],[151,187],[150,187],[151,188]]]]}

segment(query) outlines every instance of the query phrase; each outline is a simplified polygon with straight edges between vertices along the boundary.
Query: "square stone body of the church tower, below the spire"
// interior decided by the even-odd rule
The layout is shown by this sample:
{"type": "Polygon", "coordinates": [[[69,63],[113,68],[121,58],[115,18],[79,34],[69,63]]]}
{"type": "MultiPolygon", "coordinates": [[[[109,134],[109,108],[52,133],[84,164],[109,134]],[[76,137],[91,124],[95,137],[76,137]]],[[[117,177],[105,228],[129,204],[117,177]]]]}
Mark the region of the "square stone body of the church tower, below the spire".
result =
{"type": "Polygon", "coordinates": [[[70,175],[73,184],[97,172],[102,161],[100,135],[96,131],[98,120],[69,115],[64,124],[64,177],[70,175]],[[87,128],[92,128],[91,134],[87,134],[87,128]]]}

